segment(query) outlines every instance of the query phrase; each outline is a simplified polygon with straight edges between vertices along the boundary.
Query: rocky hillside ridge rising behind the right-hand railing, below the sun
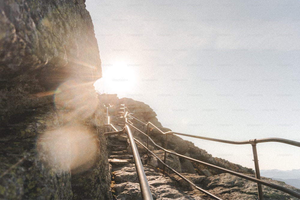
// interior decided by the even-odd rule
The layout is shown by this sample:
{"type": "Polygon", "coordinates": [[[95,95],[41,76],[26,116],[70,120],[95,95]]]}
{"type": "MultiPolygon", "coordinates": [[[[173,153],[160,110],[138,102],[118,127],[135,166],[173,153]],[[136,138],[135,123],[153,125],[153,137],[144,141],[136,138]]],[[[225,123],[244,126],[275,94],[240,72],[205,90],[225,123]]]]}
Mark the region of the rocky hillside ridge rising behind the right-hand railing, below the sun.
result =
{"type": "MultiPolygon", "coordinates": [[[[101,94],[99,95],[99,101],[104,104],[104,105],[114,105],[113,110],[109,110],[109,115],[110,115],[110,122],[112,124],[125,124],[123,121],[124,118],[119,118],[119,111],[122,111],[120,108],[123,106],[120,106],[121,104],[124,104],[127,109],[133,113],[133,116],[138,118],[140,121],[143,121],[144,123],[147,122],[152,122],[155,124],[155,126],[159,127],[163,132],[171,131],[168,128],[162,127],[161,123],[158,122],[158,119],[155,117],[156,113],[151,109],[148,105],[146,105],[143,102],[135,101],[133,99],[129,98],[121,98],[119,99],[116,94],[101,94]]],[[[146,126],[135,121],[131,120],[134,123],[134,126],[139,128],[140,130],[144,131],[146,133],[146,126]]],[[[132,132],[134,133],[134,136],[139,138],[140,141],[146,145],[146,137],[140,134],[137,130],[132,129],[132,132]]],[[[165,146],[165,135],[159,132],[157,129],[152,128],[149,131],[149,136],[152,137],[155,143],[158,145],[164,147],[165,146]]],[[[157,150],[157,152],[160,152],[161,150],[157,149],[154,145],[152,145],[151,142],[149,142],[150,148],[153,150],[157,150]]],[[[147,151],[145,148],[143,148],[141,145],[137,144],[138,151],[140,154],[146,154],[147,151]]],[[[196,147],[192,142],[187,141],[182,139],[179,136],[176,135],[168,135],[168,142],[167,142],[167,149],[174,151],[178,154],[183,154],[188,157],[201,160],[216,166],[220,167],[225,167],[226,169],[230,169],[235,172],[241,172],[241,173],[246,173],[246,174],[254,174],[254,171],[252,169],[248,169],[246,167],[242,167],[240,165],[230,163],[227,160],[221,159],[221,158],[215,158],[212,157],[211,154],[208,154],[205,150],[200,149],[196,147]]],[[[170,158],[173,155],[168,155],[170,158]]],[[[176,157],[176,156],[175,156],[176,157]]],[[[150,163],[156,163],[156,158],[152,157],[149,155],[147,159],[145,159],[146,164],[150,163]]],[[[176,169],[179,169],[180,172],[187,172],[187,173],[198,173],[199,175],[217,175],[222,172],[217,171],[216,169],[213,168],[207,168],[203,165],[197,164],[190,162],[189,160],[186,159],[178,159],[178,160],[173,160],[173,163],[178,163],[178,167],[176,169]],[[195,171],[196,170],[196,171],[195,171]]],[[[176,165],[176,164],[175,164],[176,165]]],[[[162,167],[157,166],[154,167],[162,167]]]]}

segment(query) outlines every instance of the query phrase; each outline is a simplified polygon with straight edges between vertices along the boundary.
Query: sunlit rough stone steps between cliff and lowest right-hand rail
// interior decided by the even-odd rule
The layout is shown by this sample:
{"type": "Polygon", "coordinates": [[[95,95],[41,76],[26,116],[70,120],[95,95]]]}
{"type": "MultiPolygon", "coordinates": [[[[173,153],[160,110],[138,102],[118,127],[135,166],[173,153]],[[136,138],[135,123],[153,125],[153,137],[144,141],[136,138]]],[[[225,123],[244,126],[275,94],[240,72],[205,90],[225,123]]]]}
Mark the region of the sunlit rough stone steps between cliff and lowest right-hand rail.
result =
{"type": "MultiPolygon", "coordinates": [[[[114,200],[142,199],[133,156],[128,153],[131,152],[131,147],[127,139],[125,134],[107,137],[111,189],[114,200]]],[[[195,195],[195,191],[177,175],[163,176],[160,169],[149,165],[144,165],[144,170],[153,199],[205,199],[201,193],[195,195]]],[[[199,176],[198,179],[202,180],[203,177],[199,176]]]]}

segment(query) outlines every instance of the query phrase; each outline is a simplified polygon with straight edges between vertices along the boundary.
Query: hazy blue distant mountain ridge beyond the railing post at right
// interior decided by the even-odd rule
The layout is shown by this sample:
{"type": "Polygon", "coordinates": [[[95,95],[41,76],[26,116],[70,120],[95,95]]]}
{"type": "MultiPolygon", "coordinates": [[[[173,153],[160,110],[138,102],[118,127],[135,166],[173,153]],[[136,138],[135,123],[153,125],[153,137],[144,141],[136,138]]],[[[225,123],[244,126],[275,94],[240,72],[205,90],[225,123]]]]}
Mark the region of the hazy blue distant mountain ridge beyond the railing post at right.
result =
{"type": "Polygon", "coordinates": [[[276,181],[283,181],[286,184],[300,188],[300,169],[292,170],[260,170],[260,175],[263,177],[272,178],[276,181]]]}

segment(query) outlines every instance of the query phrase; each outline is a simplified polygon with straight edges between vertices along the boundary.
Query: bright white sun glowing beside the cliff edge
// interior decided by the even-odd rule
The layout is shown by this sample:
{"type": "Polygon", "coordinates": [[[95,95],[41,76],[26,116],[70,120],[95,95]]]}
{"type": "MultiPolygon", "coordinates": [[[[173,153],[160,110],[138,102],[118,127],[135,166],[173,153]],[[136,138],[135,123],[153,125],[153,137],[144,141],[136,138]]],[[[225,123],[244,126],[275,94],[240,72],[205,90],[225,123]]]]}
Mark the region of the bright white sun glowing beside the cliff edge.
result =
{"type": "Polygon", "coordinates": [[[102,78],[94,86],[99,93],[124,96],[132,91],[136,83],[133,67],[125,61],[116,61],[102,67],[102,78]]]}

